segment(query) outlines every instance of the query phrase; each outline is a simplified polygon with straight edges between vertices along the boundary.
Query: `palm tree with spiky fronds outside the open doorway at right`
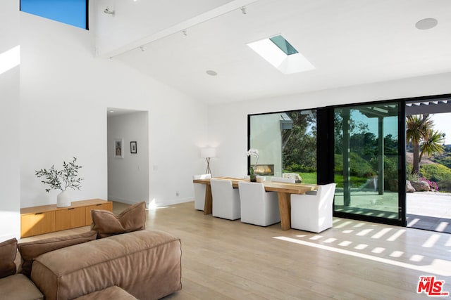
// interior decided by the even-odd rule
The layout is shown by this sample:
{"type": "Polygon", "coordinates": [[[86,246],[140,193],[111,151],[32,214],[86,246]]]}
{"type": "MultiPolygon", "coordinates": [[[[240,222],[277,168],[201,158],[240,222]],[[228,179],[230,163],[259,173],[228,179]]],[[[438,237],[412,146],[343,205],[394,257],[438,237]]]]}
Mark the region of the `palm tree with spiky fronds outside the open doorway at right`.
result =
{"type": "Polygon", "coordinates": [[[406,141],[412,142],[414,163],[412,174],[419,174],[419,164],[423,155],[443,152],[443,133],[433,130],[433,120],[428,114],[407,116],[406,141]],[[421,152],[420,152],[421,149],[421,152]]]}

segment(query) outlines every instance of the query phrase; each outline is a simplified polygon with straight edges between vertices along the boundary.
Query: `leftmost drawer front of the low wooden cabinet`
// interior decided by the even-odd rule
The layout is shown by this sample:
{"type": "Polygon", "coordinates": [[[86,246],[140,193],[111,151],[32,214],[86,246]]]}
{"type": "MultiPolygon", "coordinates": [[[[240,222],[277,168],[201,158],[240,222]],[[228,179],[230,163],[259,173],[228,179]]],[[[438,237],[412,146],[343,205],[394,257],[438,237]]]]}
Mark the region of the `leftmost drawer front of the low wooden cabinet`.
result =
{"type": "Polygon", "coordinates": [[[55,231],[55,211],[36,212],[20,216],[20,237],[42,235],[55,231]]]}

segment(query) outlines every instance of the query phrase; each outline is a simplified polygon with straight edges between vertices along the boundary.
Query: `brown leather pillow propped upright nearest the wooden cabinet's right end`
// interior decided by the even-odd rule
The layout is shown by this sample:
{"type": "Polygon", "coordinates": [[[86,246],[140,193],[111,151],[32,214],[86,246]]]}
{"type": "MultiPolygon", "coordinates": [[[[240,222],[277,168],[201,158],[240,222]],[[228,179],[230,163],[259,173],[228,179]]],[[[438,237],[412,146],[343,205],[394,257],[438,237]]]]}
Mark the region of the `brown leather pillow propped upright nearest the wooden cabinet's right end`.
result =
{"type": "Polygon", "coordinates": [[[97,238],[120,233],[143,230],[146,226],[146,203],[140,202],[128,207],[117,216],[111,211],[93,209],[91,230],[96,230],[97,238]]]}

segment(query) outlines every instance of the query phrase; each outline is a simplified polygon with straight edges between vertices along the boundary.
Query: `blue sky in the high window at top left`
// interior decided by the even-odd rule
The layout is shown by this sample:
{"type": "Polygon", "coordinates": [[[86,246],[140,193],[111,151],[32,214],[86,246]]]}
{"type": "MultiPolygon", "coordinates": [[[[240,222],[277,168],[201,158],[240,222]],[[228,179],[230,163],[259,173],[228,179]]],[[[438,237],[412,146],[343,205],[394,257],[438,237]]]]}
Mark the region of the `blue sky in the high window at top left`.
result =
{"type": "Polygon", "coordinates": [[[87,29],[87,0],[20,0],[20,11],[87,29]]]}

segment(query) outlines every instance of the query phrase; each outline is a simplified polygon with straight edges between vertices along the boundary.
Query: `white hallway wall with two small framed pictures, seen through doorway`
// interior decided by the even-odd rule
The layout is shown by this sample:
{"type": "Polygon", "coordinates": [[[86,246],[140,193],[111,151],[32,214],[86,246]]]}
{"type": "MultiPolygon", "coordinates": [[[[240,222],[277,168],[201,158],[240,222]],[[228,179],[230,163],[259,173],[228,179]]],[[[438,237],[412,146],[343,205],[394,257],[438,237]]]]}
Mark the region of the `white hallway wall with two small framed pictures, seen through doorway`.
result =
{"type": "Polygon", "coordinates": [[[133,112],[108,117],[108,199],[149,205],[149,114],[133,112]],[[123,157],[117,157],[115,141],[123,140],[123,157]],[[130,153],[130,142],[137,153],[130,153]]]}

